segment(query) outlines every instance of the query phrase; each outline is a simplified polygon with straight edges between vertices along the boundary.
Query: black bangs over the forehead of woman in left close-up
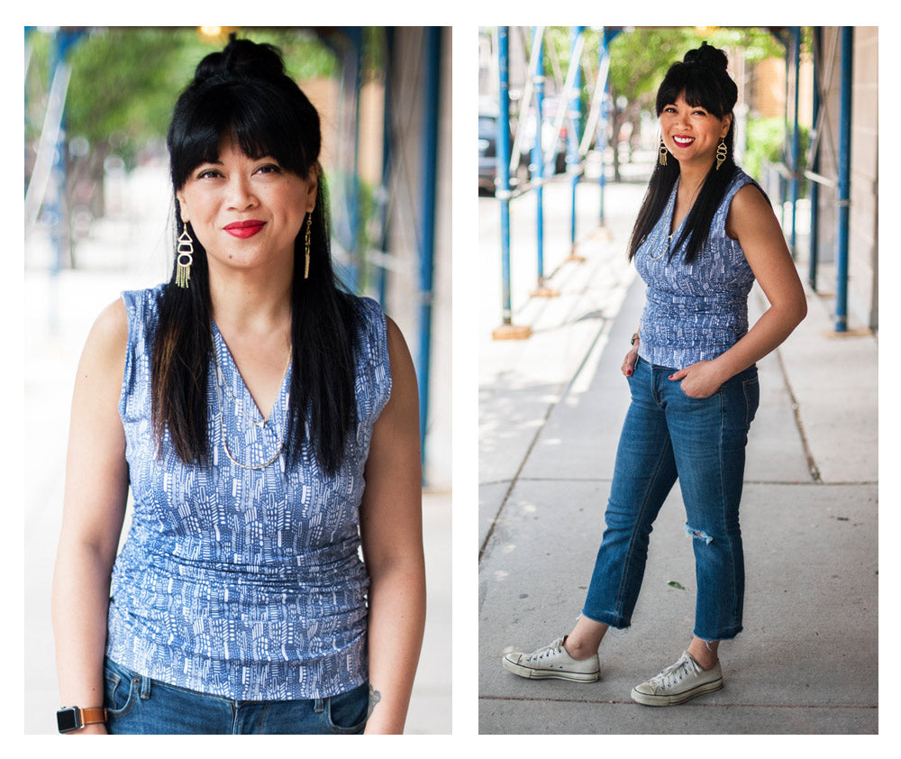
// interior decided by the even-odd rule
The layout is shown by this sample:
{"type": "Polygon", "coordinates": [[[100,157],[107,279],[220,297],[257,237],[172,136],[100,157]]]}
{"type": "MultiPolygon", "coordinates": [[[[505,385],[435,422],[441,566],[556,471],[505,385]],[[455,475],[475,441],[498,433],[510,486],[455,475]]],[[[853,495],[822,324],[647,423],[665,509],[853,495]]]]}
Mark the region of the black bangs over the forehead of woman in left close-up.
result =
{"type": "MultiPolygon", "coordinates": [[[[296,105],[285,102],[283,90],[262,82],[231,82],[194,95],[169,130],[173,187],[184,187],[200,164],[219,160],[219,146],[229,136],[248,158],[271,156],[298,176],[309,175],[318,146],[312,157],[305,151],[305,125],[296,117],[296,105]]],[[[316,123],[317,137],[318,127],[316,123]]]]}

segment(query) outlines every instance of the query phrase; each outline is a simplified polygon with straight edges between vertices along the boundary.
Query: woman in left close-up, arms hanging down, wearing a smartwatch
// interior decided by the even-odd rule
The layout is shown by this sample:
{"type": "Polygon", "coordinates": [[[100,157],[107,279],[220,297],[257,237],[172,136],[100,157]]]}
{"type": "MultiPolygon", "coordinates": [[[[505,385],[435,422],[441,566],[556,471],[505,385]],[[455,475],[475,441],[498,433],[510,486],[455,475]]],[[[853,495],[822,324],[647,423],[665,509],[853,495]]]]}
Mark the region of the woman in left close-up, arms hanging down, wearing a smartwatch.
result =
{"type": "Polygon", "coordinates": [[[425,607],[416,380],[396,325],[336,287],[320,140],[268,45],[232,36],[177,101],[172,278],[108,306],[78,368],[61,730],[403,731],[425,607]]]}

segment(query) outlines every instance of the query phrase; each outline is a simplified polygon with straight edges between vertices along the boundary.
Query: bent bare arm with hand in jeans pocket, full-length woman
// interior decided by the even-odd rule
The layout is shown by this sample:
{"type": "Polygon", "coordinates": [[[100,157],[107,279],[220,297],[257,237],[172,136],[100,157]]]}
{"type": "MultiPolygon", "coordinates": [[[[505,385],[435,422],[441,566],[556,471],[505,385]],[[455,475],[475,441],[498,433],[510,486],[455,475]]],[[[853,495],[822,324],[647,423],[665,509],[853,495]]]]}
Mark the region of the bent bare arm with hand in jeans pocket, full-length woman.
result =
{"type": "Polygon", "coordinates": [[[726,232],[742,243],[769,308],[728,351],[713,361],[698,361],[670,375],[670,379],[681,379],[682,389],[695,398],[713,394],[726,379],[778,348],[807,314],[804,288],[782,229],[757,187],[746,185],[735,193],[726,217],[726,232]]]}

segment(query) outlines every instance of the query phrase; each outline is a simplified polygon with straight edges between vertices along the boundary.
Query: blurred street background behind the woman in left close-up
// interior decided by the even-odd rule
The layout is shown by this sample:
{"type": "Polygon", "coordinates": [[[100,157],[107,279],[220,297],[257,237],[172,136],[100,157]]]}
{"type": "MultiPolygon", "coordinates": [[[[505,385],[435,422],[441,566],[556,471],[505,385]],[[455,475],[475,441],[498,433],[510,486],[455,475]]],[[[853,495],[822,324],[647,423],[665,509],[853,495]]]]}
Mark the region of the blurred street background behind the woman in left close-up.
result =
{"type": "Polygon", "coordinates": [[[451,730],[451,30],[26,27],[25,732],[56,731],[50,580],[72,383],[123,289],[167,280],[165,136],[230,32],[282,50],[319,110],[341,279],[405,334],[420,384],[429,610],[407,731],[451,730]],[[439,653],[440,652],[440,653],[439,653]]]}

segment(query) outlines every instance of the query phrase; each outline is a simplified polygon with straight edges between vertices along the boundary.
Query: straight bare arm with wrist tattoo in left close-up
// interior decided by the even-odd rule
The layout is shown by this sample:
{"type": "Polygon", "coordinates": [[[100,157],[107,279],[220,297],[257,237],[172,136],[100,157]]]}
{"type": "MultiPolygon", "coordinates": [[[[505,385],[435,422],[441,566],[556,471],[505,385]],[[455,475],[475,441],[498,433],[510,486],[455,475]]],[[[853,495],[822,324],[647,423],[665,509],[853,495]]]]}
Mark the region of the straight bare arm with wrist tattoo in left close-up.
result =
{"type": "Polygon", "coordinates": [[[391,398],[373,429],[360,507],[370,581],[367,734],[403,733],[425,625],[419,396],[410,353],[390,319],[388,354],[391,398]]]}

